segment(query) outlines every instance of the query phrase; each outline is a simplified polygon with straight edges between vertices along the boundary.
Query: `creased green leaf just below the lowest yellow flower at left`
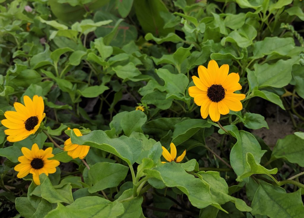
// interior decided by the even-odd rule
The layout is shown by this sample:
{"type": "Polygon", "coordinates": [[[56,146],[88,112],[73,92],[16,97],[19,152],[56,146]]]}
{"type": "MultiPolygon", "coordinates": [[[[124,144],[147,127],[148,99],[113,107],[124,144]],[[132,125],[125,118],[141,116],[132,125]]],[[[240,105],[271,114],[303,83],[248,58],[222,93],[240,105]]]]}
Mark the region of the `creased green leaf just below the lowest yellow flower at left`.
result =
{"type": "MultiPolygon", "coordinates": [[[[74,199],[72,196],[72,186],[70,183],[65,184],[62,188],[55,189],[50,182],[50,179],[47,175],[40,174],[40,189],[41,189],[41,197],[46,199],[50,203],[73,203],[74,199]]],[[[37,189],[37,188],[36,188],[37,189]]]]}

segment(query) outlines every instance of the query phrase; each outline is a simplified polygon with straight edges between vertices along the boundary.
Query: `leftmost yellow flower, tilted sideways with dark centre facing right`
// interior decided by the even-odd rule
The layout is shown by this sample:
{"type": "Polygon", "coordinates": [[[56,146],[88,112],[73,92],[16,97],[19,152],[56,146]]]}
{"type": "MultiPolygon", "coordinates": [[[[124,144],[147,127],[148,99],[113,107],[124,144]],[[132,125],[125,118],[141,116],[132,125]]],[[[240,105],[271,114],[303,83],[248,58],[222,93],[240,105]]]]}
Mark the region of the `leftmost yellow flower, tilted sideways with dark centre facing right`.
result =
{"type": "Polygon", "coordinates": [[[6,111],[4,116],[6,119],[1,124],[9,129],[4,130],[7,141],[16,142],[27,138],[34,134],[45,117],[44,103],[42,97],[34,95],[33,100],[29,96],[23,97],[24,104],[15,102],[16,111],[6,111]]]}

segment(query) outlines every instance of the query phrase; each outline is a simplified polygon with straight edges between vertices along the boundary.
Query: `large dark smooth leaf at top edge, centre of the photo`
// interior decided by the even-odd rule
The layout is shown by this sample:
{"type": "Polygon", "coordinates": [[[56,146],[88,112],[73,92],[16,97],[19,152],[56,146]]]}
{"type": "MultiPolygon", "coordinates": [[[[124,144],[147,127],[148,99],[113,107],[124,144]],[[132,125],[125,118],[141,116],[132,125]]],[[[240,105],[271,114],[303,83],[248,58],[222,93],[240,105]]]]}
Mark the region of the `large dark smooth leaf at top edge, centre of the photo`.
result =
{"type": "Polygon", "coordinates": [[[143,31],[152,33],[154,36],[166,36],[173,32],[173,28],[164,29],[164,20],[161,13],[168,13],[165,4],[160,0],[135,0],[136,17],[143,31]]]}

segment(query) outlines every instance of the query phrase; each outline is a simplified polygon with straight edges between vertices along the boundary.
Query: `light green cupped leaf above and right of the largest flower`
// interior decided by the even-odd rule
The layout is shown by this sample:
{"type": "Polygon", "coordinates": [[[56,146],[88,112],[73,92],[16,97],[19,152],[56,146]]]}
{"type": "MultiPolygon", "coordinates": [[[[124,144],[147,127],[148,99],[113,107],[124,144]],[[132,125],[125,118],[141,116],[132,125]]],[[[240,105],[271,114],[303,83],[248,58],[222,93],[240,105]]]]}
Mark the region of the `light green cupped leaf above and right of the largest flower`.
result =
{"type": "Polygon", "coordinates": [[[221,40],[222,46],[226,42],[236,43],[241,48],[247,48],[252,45],[253,39],[257,36],[257,30],[248,24],[244,24],[240,29],[234,30],[229,33],[227,37],[221,40]]]}

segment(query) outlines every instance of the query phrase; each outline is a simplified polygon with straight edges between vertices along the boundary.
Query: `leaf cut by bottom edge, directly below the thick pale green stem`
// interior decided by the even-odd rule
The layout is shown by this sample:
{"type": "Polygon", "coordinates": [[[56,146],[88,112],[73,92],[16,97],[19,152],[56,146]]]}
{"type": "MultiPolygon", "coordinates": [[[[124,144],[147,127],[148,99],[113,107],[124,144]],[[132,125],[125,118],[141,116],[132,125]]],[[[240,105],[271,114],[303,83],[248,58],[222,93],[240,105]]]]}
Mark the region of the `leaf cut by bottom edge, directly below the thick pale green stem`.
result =
{"type": "Polygon", "coordinates": [[[141,204],[143,203],[143,197],[138,196],[132,198],[133,191],[128,189],[123,192],[121,196],[116,201],[123,204],[125,212],[119,216],[119,218],[143,218],[143,209],[141,204]]]}

